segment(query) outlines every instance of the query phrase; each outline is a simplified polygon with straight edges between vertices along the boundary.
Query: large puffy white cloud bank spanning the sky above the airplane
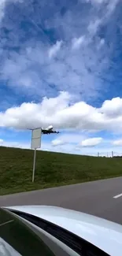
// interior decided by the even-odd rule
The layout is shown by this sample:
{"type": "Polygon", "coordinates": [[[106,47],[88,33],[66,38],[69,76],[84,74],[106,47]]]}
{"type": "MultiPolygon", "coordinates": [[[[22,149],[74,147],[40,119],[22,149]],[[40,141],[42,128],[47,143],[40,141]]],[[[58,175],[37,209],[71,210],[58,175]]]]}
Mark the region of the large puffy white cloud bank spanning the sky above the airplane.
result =
{"type": "Polygon", "coordinates": [[[71,103],[71,99],[68,92],[62,91],[56,98],[45,97],[39,103],[24,102],[20,106],[0,112],[0,126],[25,129],[39,126],[45,128],[52,124],[54,128],[61,129],[121,131],[121,98],[113,98],[109,104],[103,102],[98,109],[86,102],[71,103]]]}

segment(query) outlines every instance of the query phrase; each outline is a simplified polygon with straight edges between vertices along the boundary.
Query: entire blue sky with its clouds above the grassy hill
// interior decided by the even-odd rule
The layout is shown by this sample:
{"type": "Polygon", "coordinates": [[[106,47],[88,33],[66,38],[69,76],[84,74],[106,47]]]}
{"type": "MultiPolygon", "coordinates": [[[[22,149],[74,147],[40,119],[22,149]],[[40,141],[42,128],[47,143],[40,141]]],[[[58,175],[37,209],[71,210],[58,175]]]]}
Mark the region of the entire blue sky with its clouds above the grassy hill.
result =
{"type": "Polygon", "coordinates": [[[1,0],[0,143],[122,153],[122,2],[1,0]]]}

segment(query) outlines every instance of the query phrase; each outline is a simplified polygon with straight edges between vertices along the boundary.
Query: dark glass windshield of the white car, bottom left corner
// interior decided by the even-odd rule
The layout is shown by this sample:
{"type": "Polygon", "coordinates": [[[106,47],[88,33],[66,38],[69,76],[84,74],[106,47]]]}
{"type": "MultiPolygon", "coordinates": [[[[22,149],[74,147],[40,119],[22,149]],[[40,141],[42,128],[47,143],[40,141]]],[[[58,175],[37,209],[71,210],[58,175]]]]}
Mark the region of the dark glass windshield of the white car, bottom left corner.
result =
{"type": "Polygon", "coordinates": [[[23,222],[0,210],[0,255],[54,256],[50,248],[23,222]]]}

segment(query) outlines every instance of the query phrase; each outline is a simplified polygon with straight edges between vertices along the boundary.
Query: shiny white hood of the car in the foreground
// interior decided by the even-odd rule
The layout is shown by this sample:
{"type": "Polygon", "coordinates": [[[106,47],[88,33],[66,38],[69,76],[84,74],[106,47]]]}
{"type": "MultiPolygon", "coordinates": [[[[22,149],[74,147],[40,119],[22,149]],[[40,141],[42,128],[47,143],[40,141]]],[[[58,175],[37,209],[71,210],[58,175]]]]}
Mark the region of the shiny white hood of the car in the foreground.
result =
{"type": "Polygon", "coordinates": [[[93,243],[111,256],[122,255],[122,226],[120,224],[55,206],[10,206],[6,208],[30,213],[57,224],[93,243]]]}

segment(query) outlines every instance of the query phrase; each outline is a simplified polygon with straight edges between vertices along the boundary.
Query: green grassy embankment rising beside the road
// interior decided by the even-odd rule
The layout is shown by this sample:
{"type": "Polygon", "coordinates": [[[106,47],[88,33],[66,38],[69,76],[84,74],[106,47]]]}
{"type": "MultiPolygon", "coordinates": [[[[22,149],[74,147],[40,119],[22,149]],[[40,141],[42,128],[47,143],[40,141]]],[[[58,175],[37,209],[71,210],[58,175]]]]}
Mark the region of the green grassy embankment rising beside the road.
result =
{"type": "Polygon", "coordinates": [[[0,195],[122,176],[122,158],[37,150],[32,184],[32,165],[33,150],[0,147],[0,195]]]}

